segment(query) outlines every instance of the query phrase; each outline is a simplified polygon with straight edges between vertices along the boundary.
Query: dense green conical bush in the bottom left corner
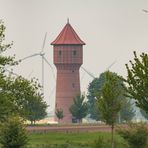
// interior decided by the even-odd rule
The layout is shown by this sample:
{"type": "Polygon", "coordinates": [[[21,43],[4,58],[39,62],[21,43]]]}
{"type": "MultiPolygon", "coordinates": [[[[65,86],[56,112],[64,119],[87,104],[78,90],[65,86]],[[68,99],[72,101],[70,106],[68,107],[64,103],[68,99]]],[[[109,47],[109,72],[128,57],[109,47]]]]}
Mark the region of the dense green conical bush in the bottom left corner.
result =
{"type": "Polygon", "coordinates": [[[0,127],[0,144],[3,148],[23,148],[28,138],[23,121],[18,116],[7,119],[0,127]]]}

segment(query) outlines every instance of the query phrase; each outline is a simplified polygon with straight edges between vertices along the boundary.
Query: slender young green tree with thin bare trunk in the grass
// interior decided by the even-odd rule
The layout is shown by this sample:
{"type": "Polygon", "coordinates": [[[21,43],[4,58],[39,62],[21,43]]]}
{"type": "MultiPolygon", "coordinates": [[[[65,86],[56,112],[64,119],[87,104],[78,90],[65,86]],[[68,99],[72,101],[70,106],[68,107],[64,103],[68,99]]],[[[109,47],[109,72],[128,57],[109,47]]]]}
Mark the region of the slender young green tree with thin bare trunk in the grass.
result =
{"type": "Polygon", "coordinates": [[[111,125],[112,130],[112,148],[114,148],[114,126],[117,116],[122,107],[121,89],[119,89],[119,78],[113,73],[105,73],[106,82],[99,94],[97,94],[98,108],[101,112],[103,121],[111,125]]]}

